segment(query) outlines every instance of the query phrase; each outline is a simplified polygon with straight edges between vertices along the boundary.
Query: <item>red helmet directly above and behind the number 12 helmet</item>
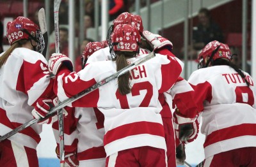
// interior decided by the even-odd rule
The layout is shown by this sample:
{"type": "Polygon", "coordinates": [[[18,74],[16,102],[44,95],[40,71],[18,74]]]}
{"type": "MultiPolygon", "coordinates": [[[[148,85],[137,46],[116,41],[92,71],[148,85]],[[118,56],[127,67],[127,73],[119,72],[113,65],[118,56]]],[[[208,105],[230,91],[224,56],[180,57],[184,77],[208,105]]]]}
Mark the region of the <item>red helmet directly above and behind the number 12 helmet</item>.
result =
{"type": "Polygon", "coordinates": [[[113,21],[113,25],[114,25],[113,29],[115,29],[116,25],[118,24],[135,25],[138,31],[140,31],[140,33],[143,33],[143,24],[142,24],[142,19],[140,15],[133,15],[128,12],[121,13],[113,21]]]}

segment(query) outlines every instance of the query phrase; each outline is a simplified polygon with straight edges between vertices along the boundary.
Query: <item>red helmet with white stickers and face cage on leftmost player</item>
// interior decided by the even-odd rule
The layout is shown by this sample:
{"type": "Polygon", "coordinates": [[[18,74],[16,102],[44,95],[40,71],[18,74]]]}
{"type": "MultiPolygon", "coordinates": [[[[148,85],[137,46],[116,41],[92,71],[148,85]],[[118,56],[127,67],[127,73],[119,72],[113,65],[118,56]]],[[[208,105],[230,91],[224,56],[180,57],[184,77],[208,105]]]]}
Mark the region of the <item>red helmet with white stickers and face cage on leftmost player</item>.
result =
{"type": "Polygon", "coordinates": [[[36,51],[42,52],[44,50],[44,38],[38,25],[29,20],[26,17],[17,17],[12,22],[8,22],[6,26],[7,32],[6,36],[10,45],[19,40],[35,40],[37,42],[36,51]],[[32,36],[34,33],[35,36],[32,36]]]}

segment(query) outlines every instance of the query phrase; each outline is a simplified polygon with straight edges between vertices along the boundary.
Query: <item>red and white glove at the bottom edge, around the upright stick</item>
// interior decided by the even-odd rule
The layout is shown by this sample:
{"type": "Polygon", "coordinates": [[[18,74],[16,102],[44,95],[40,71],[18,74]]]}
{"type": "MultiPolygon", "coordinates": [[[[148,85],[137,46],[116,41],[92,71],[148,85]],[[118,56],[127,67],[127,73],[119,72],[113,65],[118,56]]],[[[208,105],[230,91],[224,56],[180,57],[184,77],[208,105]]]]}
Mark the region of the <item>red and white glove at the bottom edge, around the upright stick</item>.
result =
{"type": "MultiPolygon", "coordinates": [[[[60,159],[59,147],[56,147],[56,155],[58,159],[60,159]]],[[[64,157],[65,163],[67,163],[70,167],[79,166],[79,161],[77,160],[76,152],[65,152],[64,157]]]]}

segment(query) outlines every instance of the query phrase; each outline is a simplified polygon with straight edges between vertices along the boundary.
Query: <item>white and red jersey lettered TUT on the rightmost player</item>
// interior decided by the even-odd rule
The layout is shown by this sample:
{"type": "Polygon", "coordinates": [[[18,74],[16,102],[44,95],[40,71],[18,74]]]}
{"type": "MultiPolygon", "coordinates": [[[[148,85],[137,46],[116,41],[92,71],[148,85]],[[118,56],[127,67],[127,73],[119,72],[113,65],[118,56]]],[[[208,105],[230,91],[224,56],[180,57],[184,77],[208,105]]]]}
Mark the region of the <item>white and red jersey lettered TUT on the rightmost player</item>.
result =
{"type": "Polygon", "coordinates": [[[256,147],[256,91],[230,66],[212,66],[192,73],[188,82],[202,112],[205,159],[228,150],[256,147]]]}

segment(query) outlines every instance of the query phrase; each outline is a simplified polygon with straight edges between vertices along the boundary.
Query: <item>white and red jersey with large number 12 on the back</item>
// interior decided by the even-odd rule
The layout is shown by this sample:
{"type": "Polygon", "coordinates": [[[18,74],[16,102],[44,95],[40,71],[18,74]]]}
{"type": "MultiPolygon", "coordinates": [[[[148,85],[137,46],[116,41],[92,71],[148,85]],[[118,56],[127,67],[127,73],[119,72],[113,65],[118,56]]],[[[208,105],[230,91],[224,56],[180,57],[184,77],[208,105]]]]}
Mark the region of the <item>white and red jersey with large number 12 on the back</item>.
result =
{"type": "MultiPolygon", "coordinates": [[[[137,59],[127,60],[134,62],[137,59]]],[[[166,149],[158,94],[172,87],[182,66],[176,57],[156,54],[153,59],[132,69],[131,93],[122,96],[117,89],[117,80],[112,80],[72,103],[72,106],[98,107],[104,113],[104,147],[107,156],[146,145],[166,149]]],[[[116,73],[113,61],[90,63],[79,73],[63,69],[58,74],[58,87],[54,87],[54,91],[63,101],[113,73],[116,73]]]]}

